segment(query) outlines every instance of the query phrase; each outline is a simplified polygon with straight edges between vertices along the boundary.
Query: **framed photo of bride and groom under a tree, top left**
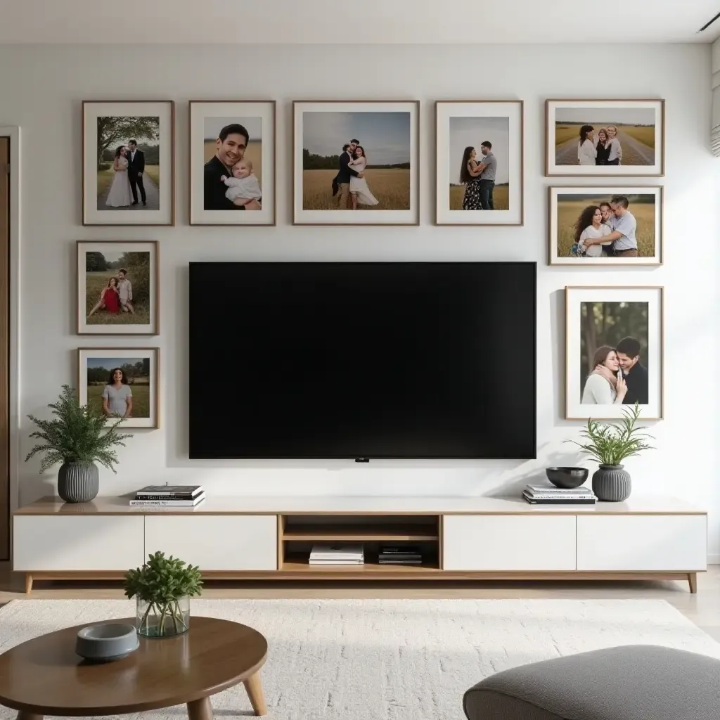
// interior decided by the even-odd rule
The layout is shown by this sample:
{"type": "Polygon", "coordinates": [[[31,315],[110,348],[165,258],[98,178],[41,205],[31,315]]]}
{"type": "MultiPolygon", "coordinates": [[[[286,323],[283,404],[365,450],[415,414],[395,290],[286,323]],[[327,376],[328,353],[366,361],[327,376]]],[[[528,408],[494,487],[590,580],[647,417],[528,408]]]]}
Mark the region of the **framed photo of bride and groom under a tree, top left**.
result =
{"type": "Polygon", "coordinates": [[[82,104],[83,225],[175,224],[175,104],[82,104]]]}

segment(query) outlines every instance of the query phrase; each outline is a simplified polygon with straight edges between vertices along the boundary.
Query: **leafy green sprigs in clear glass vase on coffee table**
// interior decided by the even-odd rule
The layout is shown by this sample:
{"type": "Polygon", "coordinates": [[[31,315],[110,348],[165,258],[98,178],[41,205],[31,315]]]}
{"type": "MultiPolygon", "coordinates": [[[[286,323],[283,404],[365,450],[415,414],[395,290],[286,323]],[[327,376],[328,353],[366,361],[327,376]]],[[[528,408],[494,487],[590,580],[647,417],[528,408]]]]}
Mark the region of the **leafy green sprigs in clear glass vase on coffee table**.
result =
{"type": "Polygon", "coordinates": [[[190,598],[202,592],[197,567],[172,555],[148,555],[143,567],[128,570],[125,595],[137,598],[138,633],[147,637],[179,635],[190,627],[190,598]]]}

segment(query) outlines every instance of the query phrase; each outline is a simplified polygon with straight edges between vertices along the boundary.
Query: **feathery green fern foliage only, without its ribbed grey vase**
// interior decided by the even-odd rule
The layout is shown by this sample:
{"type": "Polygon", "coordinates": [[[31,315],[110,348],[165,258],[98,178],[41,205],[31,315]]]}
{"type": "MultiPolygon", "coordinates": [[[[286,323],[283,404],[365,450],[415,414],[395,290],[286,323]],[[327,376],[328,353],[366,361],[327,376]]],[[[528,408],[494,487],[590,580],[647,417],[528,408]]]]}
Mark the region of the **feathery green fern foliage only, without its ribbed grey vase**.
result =
{"type": "Polygon", "coordinates": [[[39,420],[35,415],[28,415],[37,429],[30,433],[31,438],[41,442],[27,454],[25,462],[33,456],[44,453],[40,464],[40,473],[53,467],[58,462],[98,462],[107,469],[116,472],[116,445],[125,446],[126,438],[131,434],[122,434],[117,426],[124,418],[107,423],[102,409],[93,405],[80,405],[75,390],[63,385],[56,402],[48,405],[53,410],[55,420],[39,420]]]}

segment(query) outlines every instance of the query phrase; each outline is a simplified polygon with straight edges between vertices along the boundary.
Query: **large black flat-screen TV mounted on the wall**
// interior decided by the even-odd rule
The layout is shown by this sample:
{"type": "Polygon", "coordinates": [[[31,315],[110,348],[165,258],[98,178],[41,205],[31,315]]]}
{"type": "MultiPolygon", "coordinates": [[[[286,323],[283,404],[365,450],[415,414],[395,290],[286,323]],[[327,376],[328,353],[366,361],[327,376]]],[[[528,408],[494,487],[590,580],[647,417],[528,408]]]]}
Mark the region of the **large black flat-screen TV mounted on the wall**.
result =
{"type": "Polygon", "coordinates": [[[533,262],[190,264],[189,455],[536,456],[533,262]]]}

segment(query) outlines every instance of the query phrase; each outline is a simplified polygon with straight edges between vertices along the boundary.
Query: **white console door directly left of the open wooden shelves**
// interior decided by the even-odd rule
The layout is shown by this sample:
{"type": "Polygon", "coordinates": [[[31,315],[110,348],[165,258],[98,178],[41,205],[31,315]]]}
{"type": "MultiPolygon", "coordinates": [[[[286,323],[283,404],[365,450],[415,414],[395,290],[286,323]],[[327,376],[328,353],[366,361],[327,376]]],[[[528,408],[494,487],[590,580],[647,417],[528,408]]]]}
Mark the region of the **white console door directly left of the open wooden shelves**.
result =
{"type": "Polygon", "coordinates": [[[200,570],[277,570],[276,515],[148,515],[145,552],[200,570]]]}

